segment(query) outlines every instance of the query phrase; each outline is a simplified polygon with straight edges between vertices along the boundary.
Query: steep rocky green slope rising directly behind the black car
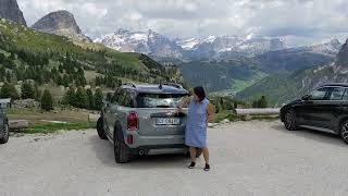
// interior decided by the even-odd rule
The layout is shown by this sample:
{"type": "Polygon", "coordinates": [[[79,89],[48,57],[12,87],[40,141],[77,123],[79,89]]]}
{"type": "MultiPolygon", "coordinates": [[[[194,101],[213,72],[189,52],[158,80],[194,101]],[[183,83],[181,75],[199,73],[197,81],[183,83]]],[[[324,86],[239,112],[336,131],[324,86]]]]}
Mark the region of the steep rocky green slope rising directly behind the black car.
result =
{"type": "Polygon", "coordinates": [[[253,100],[265,95],[274,106],[299,98],[326,83],[348,82],[348,39],[331,62],[290,73],[270,75],[238,93],[236,98],[253,100]]]}

